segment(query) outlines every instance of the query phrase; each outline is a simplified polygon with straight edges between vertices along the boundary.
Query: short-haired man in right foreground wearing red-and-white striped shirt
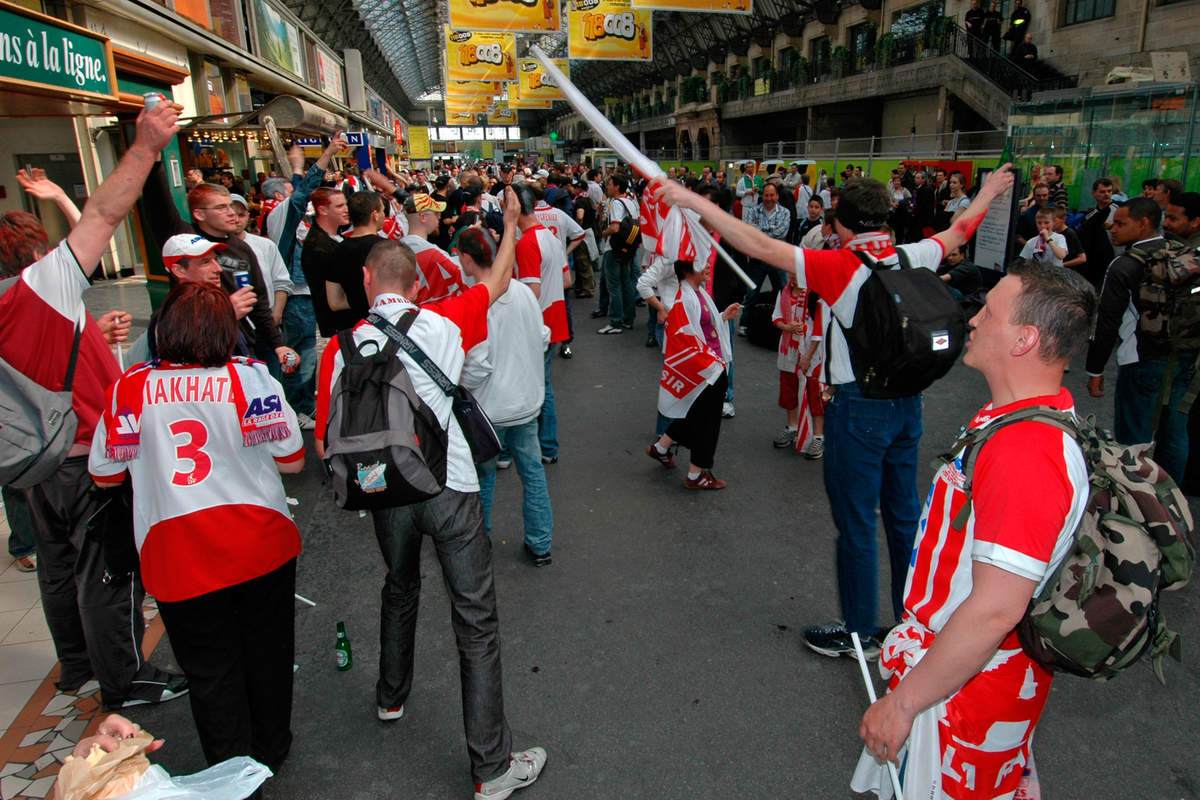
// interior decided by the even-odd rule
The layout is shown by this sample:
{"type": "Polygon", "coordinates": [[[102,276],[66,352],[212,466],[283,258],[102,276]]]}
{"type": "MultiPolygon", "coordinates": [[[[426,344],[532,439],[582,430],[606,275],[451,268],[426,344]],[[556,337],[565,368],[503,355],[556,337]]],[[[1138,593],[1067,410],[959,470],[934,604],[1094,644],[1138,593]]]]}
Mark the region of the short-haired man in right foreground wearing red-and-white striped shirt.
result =
{"type": "MultiPolygon", "coordinates": [[[[967,427],[1033,405],[1073,411],[1062,374],[1087,341],[1096,308],[1094,290],[1078,273],[1010,265],[971,320],[964,363],[986,378],[991,402],[967,427]]],[[[1032,763],[1052,676],[1025,654],[1014,628],[1074,545],[1087,467],[1069,434],[1015,422],[982,445],[962,516],[962,456],[937,471],[925,501],[904,619],[883,644],[889,693],[859,727],[866,751],[856,792],[887,783],[875,756],[905,759],[906,796],[955,800],[1012,798],[1032,763]]]]}

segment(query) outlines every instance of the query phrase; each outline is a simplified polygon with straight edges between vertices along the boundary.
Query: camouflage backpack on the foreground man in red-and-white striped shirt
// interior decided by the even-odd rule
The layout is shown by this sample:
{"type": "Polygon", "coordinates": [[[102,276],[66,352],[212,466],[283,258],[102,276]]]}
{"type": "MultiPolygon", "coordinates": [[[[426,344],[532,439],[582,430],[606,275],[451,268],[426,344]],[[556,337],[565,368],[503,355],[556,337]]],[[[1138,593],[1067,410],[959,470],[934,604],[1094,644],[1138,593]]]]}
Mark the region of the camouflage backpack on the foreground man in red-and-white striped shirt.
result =
{"type": "Polygon", "coordinates": [[[1021,646],[1046,669],[1094,680],[1108,680],[1148,654],[1154,674],[1164,680],[1163,656],[1178,661],[1181,648],[1178,634],[1166,627],[1158,595],[1187,584],[1195,547],[1192,511],[1175,481],[1147,457],[1151,445],[1126,447],[1093,419],[1078,420],[1048,407],[1013,411],[964,433],[950,450],[964,449],[968,500],[954,527],[967,523],[972,473],[983,445],[997,431],[1030,421],[1075,439],[1091,488],[1074,547],[1016,627],[1021,646]]]}

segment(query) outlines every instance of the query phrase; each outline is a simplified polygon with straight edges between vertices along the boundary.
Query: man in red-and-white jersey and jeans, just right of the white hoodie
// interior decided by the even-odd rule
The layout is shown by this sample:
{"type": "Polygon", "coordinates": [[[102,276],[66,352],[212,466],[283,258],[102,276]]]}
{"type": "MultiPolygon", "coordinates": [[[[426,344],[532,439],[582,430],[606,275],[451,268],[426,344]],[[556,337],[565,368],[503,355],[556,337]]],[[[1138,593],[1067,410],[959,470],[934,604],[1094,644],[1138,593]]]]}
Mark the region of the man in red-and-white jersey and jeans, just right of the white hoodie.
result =
{"type": "MultiPolygon", "coordinates": [[[[526,188],[521,191],[528,192],[526,188]]],[[[554,344],[571,338],[564,291],[571,284],[571,272],[558,237],[538,221],[534,209],[523,210],[517,224],[521,239],[516,247],[516,276],[538,296],[542,321],[550,329],[550,347],[545,354],[546,399],[538,416],[538,441],[542,463],[554,464],[558,462],[558,414],[554,411],[554,390],[550,385],[550,367],[554,362],[554,344]]]]}

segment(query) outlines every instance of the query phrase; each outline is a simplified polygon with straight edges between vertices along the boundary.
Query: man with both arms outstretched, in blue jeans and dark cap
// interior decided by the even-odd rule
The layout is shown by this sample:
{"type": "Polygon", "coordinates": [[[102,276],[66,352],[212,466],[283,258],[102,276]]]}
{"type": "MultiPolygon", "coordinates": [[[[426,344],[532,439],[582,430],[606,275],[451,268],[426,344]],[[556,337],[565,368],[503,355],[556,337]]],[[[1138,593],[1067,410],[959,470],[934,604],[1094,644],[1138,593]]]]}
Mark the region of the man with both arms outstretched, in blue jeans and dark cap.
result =
{"type": "MultiPolygon", "coordinates": [[[[991,200],[1012,187],[1007,168],[997,169],[955,223],[932,239],[901,245],[911,266],[936,271],[946,252],[966,242],[983,221],[991,200]]],[[[892,567],[892,610],[904,612],[904,576],[920,517],[917,462],[922,435],[922,398],[866,397],[858,387],[842,329],[854,324],[858,291],[871,275],[859,258],[886,269],[899,267],[892,239],[881,229],[892,200],[888,190],[871,179],[852,179],[841,190],[834,227],[845,242],[839,249],[812,251],[772,239],[757,228],[722,212],[716,205],[678,184],[655,179],[655,194],[673,205],[700,211],[749,258],[794,272],[802,289],[812,289],[829,303],[839,325],[826,339],[829,391],[826,407],[824,482],[838,527],[836,570],[841,621],[810,626],[804,643],[827,656],[854,654],[851,633],[865,650],[878,651],[878,553],[876,529],[881,512],[892,567]]]]}

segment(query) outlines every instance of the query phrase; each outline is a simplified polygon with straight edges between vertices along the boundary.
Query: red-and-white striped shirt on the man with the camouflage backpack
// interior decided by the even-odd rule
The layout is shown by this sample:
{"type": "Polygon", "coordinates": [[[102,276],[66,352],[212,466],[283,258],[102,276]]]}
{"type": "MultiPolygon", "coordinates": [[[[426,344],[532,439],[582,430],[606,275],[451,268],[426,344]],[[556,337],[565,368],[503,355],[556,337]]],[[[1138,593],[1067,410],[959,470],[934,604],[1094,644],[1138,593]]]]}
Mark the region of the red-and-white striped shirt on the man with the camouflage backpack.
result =
{"type": "MultiPolygon", "coordinates": [[[[992,408],[989,403],[968,429],[994,425],[1030,405],[1074,411],[1066,389],[992,408]]],[[[937,633],[971,594],[972,561],[997,566],[1038,582],[1038,590],[1069,552],[1087,504],[1087,467],[1075,440],[1042,422],[1019,422],[984,445],[972,477],[972,511],[959,530],[952,521],[962,504],[962,452],[934,477],[918,527],[905,585],[905,616],[937,633]],[[1032,491],[1031,491],[1032,489],[1032,491]]],[[[1002,648],[1013,644],[1010,633],[1002,648]]]]}

